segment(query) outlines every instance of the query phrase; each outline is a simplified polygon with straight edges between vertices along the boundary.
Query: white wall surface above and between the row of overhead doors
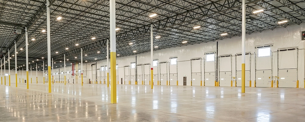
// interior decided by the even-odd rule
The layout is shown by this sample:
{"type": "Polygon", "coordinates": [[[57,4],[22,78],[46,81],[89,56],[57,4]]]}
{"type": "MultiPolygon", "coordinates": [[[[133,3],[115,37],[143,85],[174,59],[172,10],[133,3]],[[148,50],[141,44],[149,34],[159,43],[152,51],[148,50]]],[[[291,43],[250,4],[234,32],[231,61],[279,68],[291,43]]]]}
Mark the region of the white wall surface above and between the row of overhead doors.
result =
{"type": "MultiPolygon", "coordinates": [[[[304,87],[304,41],[301,41],[301,31],[305,31],[305,24],[301,25],[292,25],[286,28],[278,28],[274,30],[267,30],[263,31],[262,33],[253,33],[251,35],[246,35],[246,52],[251,52],[251,79],[252,80],[252,87],[254,86],[255,79],[255,53],[257,53],[257,46],[263,45],[273,45],[271,50],[273,52],[273,76],[277,76],[277,49],[281,48],[292,48],[298,47],[299,48],[299,63],[298,63],[298,80],[300,81],[300,87],[304,87]]],[[[218,40],[219,45],[219,52],[218,55],[228,55],[232,54],[232,76],[235,76],[235,54],[241,53],[241,37],[233,37],[233,38],[226,38],[224,40],[218,40]]],[[[154,51],[153,59],[158,59],[158,62],[168,61],[170,62],[170,57],[177,56],[178,59],[178,82],[179,85],[183,85],[183,77],[187,77],[187,85],[190,85],[191,80],[191,70],[190,70],[190,59],[193,58],[205,58],[204,53],[206,52],[215,52],[216,51],[216,41],[208,42],[208,43],[200,43],[195,45],[187,45],[182,47],[175,47],[175,48],[166,48],[162,50],[154,51]]],[[[131,65],[130,63],[135,62],[135,55],[134,56],[126,56],[126,57],[118,57],[117,64],[119,70],[123,69],[121,67],[131,65]]],[[[238,61],[239,62],[239,61],[238,61]]],[[[150,63],[150,52],[138,54],[137,55],[137,64],[145,64],[150,63]]],[[[204,62],[203,62],[204,63],[204,62]]],[[[91,76],[91,64],[87,63],[87,66],[84,65],[84,75],[87,75],[90,79],[91,76]],[[87,69],[87,70],[86,70],[87,69]],[[87,71],[87,72],[86,72],[87,71]]],[[[230,64],[230,63],[228,63],[230,64]]],[[[97,62],[97,69],[100,66],[105,66],[106,60],[98,61],[97,62]]],[[[203,65],[203,64],[202,64],[203,65]]],[[[237,64],[238,66],[241,64],[237,64]]],[[[246,64],[249,65],[249,64],[246,64]]],[[[265,64],[260,63],[257,64],[259,66],[264,67],[265,64]]],[[[209,67],[209,66],[207,66],[209,67]]],[[[213,70],[211,68],[206,69],[213,70]]],[[[67,67],[67,69],[71,69],[71,67],[67,67]]],[[[79,66],[80,69],[80,66],[79,66]]],[[[203,68],[202,68],[203,69],[203,68]]],[[[54,69],[58,70],[58,69],[54,69]]],[[[61,71],[62,69],[60,69],[61,71]]],[[[154,74],[157,68],[154,68],[154,74]]],[[[159,71],[158,71],[159,72],[159,71]]],[[[204,70],[202,70],[202,76],[204,70]]],[[[99,71],[97,73],[99,75],[99,71]]],[[[258,77],[258,76],[257,76],[258,77]]],[[[120,78],[124,78],[124,71],[119,71],[117,81],[120,78]]],[[[203,77],[204,79],[204,77],[203,77]]],[[[158,79],[160,81],[160,77],[158,79]]],[[[120,84],[120,83],[119,83],[120,84]]],[[[124,84],[124,82],[123,82],[124,84]]],[[[128,84],[128,82],[126,83],[128,84]]],[[[141,84],[140,82],[138,84],[141,84]]],[[[155,83],[156,84],[156,83],[155,83]]],[[[171,83],[171,85],[176,85],[176,83],[171,83]]]]}

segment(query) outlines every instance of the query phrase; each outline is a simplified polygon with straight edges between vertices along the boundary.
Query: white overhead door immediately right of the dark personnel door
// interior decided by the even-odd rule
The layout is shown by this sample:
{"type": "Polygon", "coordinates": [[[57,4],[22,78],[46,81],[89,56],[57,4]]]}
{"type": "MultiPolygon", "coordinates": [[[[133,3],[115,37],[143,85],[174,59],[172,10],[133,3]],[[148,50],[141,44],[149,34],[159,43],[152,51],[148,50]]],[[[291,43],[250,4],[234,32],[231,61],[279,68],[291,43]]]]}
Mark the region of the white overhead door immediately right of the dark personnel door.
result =
{"type": "Polygon", "coordinates": [[[201,58],[191,59],[191,79],[192,86],[202,85],[202,62],[201,58]]]}

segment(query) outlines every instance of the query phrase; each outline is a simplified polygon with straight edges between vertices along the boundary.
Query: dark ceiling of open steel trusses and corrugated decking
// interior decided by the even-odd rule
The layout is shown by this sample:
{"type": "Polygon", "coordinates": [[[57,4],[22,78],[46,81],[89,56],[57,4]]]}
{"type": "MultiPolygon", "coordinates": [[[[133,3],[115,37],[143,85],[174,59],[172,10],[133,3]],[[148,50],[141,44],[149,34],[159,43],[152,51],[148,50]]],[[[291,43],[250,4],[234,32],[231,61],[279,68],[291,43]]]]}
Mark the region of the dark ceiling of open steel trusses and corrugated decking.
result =
{"type": "MultiPolygon", "coordinates": [[[[154,46],[158,46],[154,50],[241,36],[241,2],[116,0],[116,27],[120,28],[116,31],[116,52],[120,54],[117,57],[149,52],[151,24],[154,37],[160,36],[154,38],[154,46]],[[149,17],[152,14],[156,16],[149,17]],[[194,29],[197,26],[200,27],[194,29]],[[227,35],[221,36],[224,33],[227,35]]],[[[247,34],[305,21],[304,0],[246,0],[246,4],[247,34]],[[253,13],[257,10],[264,11],[253,13]],[[286,23],[278,23],[285,20],[286,23]]],[[[18,69],[26,63],[26,27],[32,68],[37,63],[38,70],[42,70],[43,61],[47,64],[48,32],[51,34],[51,57],[56,62],[54,68],[63,66],[64,55],[69,59],[67,66],[72,62],[80,63],[81,48],[83,54],[88,55],[83,60],[87,63],[106,59],[106,41],[110,38],[108,0],[50,0],[51,30],[46,30],[46,0],[2,0],[0,8],[0,47],[5,50],[0,55],[7,59],[9,50],[11,69],[15,68],[15,57],[12,56],[15,42],[18,69]],[[62,19],[57,20],[59,16],[62,19]],[[23,30],[21,34],[15,33],[18,28],[23,30]],[[41,32],[44,29],[46,32],[41,32]]]]}

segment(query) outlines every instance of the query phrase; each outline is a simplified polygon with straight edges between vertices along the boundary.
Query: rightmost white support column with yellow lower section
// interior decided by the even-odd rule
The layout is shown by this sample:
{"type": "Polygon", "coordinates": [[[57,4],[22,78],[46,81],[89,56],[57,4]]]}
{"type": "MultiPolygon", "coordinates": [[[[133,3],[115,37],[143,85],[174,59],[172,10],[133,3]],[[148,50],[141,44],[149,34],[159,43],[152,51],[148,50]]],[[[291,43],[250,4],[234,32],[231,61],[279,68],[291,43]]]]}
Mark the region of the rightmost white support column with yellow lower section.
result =
{"type": "Polygon", "coordinates": [[[246,5],[242,0],[242,93],[245,93],[245,41],[246,41],[246,5]]]}

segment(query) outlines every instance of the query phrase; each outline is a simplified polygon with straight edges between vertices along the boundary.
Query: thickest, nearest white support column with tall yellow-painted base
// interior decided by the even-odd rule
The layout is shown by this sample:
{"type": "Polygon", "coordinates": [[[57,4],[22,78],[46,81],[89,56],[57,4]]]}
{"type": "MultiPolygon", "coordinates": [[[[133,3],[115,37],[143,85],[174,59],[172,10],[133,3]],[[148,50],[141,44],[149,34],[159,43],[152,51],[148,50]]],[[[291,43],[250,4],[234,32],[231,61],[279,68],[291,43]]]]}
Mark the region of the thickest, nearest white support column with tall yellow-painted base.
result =
{"type": "MultiPolygon", "coordinates": [[[[110,0],[110,67],[111,67],[111,104],[117,103],[116,72],[116,32],[115,32],[115,0],[110,0]]],[[[108,67],[107,67],[108,68],[108,67]]]]}

